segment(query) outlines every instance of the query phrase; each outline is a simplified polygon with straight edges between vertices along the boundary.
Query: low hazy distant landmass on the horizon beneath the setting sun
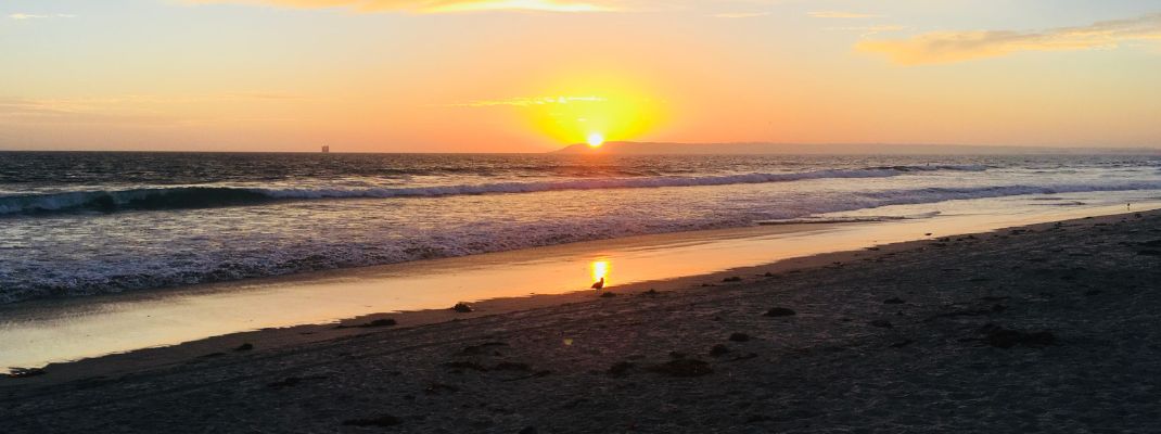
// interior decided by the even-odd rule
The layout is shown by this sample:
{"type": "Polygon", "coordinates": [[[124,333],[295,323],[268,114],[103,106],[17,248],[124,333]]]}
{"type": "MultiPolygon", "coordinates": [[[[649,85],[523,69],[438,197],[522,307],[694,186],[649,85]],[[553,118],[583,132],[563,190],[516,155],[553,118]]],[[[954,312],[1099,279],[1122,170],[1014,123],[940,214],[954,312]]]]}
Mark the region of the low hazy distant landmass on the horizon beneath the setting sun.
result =
{"type": "Polygon", "coordinates": [[[1041,146],[973,146],[973,145],[893,145],[893,144],[779,144],[779,143],[646,143],[610,142],[600,147],[587,144],[567,146],[554,153],[570,154],[1120,154],[1159,155],[1152,147],[1041,147],[1041,146]]]}

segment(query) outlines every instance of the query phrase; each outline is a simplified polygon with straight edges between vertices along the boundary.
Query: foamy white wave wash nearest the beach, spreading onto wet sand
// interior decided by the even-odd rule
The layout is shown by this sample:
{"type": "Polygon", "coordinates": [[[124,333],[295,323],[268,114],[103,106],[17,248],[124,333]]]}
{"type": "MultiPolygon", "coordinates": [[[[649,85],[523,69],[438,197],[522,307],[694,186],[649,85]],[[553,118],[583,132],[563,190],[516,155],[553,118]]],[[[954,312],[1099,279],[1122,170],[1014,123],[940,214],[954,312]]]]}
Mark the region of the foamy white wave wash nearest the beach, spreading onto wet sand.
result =
{"type": "MultiPolygon", "coordinates": [[[[683,214],[679,217],[666,215],[661,209],[648,209],[524,223],[499,222],[483,227],[479,222],[468,222],[438,229],[405,227],[398,232],[367,230],[359,232],[355,238],[334,236],[279,240],[268,238],[275,237],[275,233],[261,231],[223,239],[214,238],[218,234],[179,237],[166,240],[165,248],[159,251],[142,249],[123,256],[113,252],[111,255],[67,262],[68,266],[60,266],[57,256],[46,261],[8,258],[9,267],[0,267],[0,288],[3,288],[0,291],[0,304],[463,256],[649,233],[737,227],[759,220],[817,220],[820,217],[812,216],[897,204],[1128,190],[1161,190],[1161,181],[832,191],[810,201],[791,197],[778,204],[750,202],[744,208],[683,214]]],[[[935,215],[932,211],[878,219],[926,218],[935,215]]],[[[5,260],[0,259],[0,265],[3,263],[5,260]]]]}

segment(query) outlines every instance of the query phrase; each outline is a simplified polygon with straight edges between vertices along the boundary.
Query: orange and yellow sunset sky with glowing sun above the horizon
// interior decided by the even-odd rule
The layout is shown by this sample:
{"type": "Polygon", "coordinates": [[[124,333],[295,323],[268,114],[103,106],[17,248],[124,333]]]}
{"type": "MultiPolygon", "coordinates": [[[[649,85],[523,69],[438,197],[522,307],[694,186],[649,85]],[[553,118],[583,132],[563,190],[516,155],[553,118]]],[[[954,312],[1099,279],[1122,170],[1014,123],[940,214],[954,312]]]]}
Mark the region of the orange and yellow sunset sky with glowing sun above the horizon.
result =
{"type": "Polygon", "coordinates": [[[1161,1],[5,0],[0,149],[1161,146],[1161,1]]]}

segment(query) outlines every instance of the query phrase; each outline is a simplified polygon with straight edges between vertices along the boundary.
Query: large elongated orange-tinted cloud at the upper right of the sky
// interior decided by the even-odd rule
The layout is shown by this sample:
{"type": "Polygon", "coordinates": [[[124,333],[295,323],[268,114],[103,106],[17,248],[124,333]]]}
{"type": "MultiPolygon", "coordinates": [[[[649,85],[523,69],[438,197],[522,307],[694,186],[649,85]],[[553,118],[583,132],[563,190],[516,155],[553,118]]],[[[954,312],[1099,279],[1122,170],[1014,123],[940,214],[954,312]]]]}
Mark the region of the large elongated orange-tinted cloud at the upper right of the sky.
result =
{"type": "Polygon", "coordinates": [[[856,45],[856,50],[884,55],[897,64],[921,65],[1000,57],[1022,51],[1116,49],[1126,42],[1151,39],[1161,39],[1161,14],[1034,32],[937,31],[906,39],[864,41],[856,45]]]}

